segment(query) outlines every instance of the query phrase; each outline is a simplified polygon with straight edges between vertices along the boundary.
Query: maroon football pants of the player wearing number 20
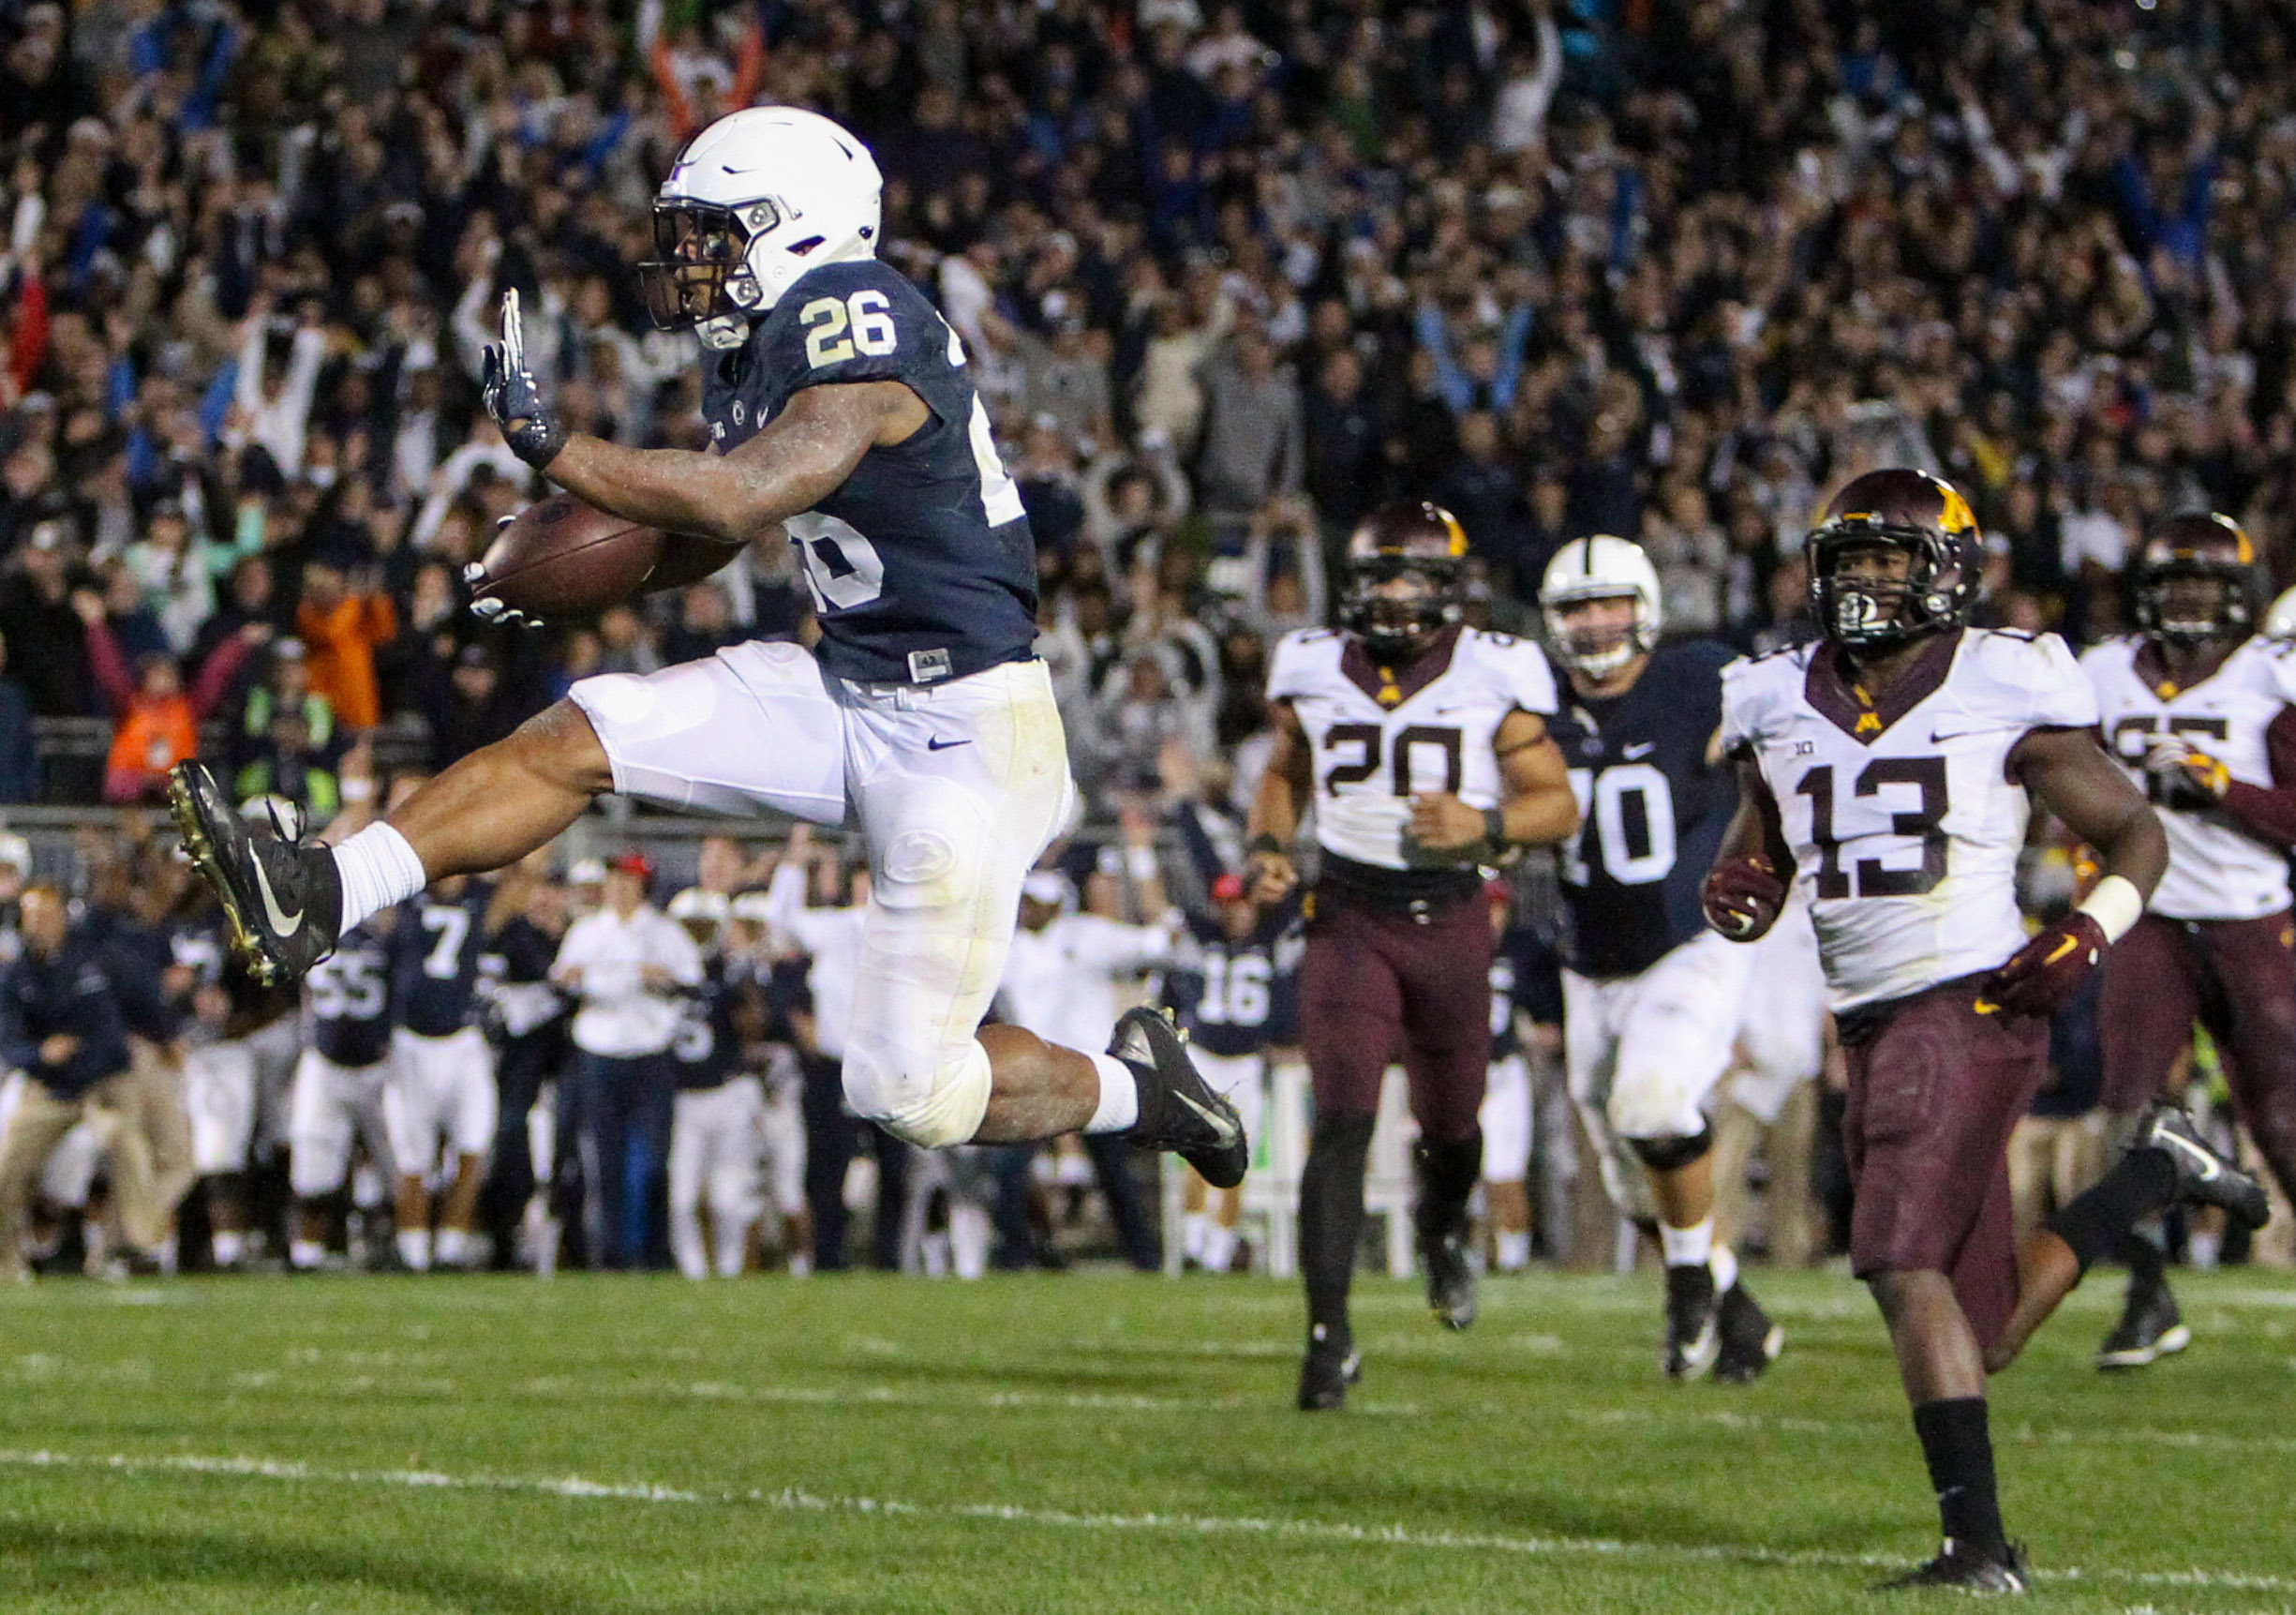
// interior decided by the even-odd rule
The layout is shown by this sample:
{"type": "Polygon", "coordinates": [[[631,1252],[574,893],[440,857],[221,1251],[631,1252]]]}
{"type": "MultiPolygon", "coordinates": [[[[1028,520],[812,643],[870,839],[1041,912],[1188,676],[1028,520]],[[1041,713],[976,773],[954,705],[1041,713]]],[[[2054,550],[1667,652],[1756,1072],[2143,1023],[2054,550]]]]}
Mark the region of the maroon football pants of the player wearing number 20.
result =
{"type": "Polygon", "coordinates": [[[1490,907],[1456,903],[1426,924],[1318,894],[1300,965],[1300,1020],[1316,1114],[1371,1116],[1403,1061],[1430,1144],[1476,1135],[1490,1071],[1490,907]]]}

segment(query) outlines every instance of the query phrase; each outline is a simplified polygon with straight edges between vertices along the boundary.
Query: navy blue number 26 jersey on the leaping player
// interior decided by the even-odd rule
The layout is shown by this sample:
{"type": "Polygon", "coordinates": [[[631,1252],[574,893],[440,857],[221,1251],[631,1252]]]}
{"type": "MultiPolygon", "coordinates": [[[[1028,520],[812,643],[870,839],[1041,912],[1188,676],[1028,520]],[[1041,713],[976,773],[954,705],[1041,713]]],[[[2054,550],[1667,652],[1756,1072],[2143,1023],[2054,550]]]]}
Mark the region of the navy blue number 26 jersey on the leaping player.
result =
{"type": "Polygon", "coordinates": [[[900,381],[932,418],[868,450],[838,492],[785,524],[822,618],[822,666],[932,685],[1024,662],[1035,646],[1035,540],[955,331],[886,264],[808,271],[744,347],[703,370],[719,453],[824,381],[900,381]]]}

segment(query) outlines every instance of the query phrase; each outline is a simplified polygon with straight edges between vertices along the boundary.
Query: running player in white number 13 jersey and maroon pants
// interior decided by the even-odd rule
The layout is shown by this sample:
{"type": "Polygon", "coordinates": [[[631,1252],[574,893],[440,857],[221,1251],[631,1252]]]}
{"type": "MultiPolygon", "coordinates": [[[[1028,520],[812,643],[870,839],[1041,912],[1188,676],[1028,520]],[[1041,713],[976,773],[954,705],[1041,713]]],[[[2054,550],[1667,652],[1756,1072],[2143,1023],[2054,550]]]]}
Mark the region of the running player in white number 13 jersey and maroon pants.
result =
{"type": "Polygon", "coordinates": [[[2140,1215],[2183,1195],[2262,1220],[2264,1188],[2161,1107],[2096,1188],[2011,1241],[2007,1144],[2046,1075],[2048,1015],[2144,912],[2167,841],[2096,744],[2064,643],[1965,627],[1984,542],[1961,494],[1871,471],[1802,554],[1823,639],[1722,675],[1740,804],[1706,917],[1752,940],[1789,880],[1809,891],[1851,1073],[1851,1264],[1890,1326],[1945,1525],[1903,1585],[2020,1592],[1986,1374],[2140,1215]],[[2014,887],[2032,802],[2105,875],[2027,942],[2014,887]]]}

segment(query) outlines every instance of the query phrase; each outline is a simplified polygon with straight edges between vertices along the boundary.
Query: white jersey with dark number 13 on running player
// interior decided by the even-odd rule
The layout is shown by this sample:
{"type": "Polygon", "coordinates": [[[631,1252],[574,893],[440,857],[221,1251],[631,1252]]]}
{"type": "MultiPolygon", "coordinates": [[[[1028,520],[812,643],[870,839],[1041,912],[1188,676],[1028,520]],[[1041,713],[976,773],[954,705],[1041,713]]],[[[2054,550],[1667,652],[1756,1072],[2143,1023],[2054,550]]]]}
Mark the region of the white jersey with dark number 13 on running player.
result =
{"type": "Polygon", "coordinates": [[[2009,751],[2092,728],[2096,694],[2055,634],[1940,634],[1880,710],[1830,643],[1722,671],[1722,749],[1777,799],[1835,1009],[1998,967],[2025,944],[2027,797],[2009,751]]]}

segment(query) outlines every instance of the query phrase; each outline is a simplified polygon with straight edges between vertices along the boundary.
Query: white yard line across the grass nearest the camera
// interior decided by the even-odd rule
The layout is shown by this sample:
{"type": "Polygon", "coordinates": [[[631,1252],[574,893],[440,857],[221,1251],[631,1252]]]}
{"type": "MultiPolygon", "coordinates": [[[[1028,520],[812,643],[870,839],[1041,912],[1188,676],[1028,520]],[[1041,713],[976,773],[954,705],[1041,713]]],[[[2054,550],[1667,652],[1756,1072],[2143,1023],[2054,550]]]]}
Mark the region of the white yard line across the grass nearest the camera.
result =
{"type": "MultiPolygon", "coordinates": [[[[1444,1553],[1497,1553],[1522,1558],[1612,1558],[1612,1560],[1685,1560],[1724,1564],[1766,1564],[1779,1569],[1901,1569],[1903,1560],[1880,1553],[1789,1553],[1740,1544],[1669,1544],[1612,1541],[1600,1537],[1502,1537],[1492,1532],[1414,1530],[1410,1525],[1355,1525],[1348,1521],[1263,1519],[1217,1514],[1077,1514],[1038,1509],[1015,1502],[900,1502],[889,1498],[817,1496],[783,1491],[709,1491],[689,1486],[615,1484],[579,1475],[448,1475],[443,1470],[333,1470],[287,1459],[200,1456],[200,1454],[78,1454],[78,1452],[7,1452],[0,1468],[14,1470],[106,1470],[115,1475],[200,1475],[225,1479],[266,1479],[289,1486],[363,1486],[400,1491],[491,1491],[542,1498],[576,1498],[590,1502],[638,1502],[673,1507],[765,1507],[790,1514],[868,1514],[882,1519],[983,1521],[996,1525],[1033,1525],[1049,1530],[1111,1530],[1166,1535],[1235,1535],[1279,1537],[1288,1541],[1329,1541],[1382,1548],[1433,1548],[1444,1553]]],[[[2043,1581],[2115,1583],[2135,1587],[2204,1587],[2227,1592],[2296,1592],[2296,1576],[2255,1576],[2220,1569],[2043,1569],[2043,1581]]]]}

